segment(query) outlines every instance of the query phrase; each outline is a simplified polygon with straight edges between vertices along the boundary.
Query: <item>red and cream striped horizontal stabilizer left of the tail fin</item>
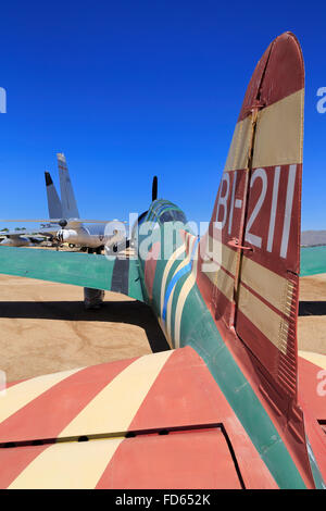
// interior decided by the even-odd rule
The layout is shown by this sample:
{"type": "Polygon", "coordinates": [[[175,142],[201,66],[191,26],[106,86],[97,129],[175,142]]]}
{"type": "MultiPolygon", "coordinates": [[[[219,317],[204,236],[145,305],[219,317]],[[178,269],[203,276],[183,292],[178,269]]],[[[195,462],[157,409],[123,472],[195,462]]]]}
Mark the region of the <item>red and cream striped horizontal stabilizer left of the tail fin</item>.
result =
{"type": "Polygon", "coordinates": [[[11,385],[0,444],[1,488],[276,486],[189,347],[11,385]]]}

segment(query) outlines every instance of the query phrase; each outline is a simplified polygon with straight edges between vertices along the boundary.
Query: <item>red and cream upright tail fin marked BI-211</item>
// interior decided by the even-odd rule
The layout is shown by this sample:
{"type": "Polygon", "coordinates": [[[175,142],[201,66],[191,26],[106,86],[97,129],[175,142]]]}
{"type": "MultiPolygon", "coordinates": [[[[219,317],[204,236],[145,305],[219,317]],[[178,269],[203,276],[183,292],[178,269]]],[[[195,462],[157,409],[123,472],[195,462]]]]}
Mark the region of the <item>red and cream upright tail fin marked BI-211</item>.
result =
{"type": "Polygon", "coordinates": [[[198,274],[215,321],[241,339],[261,392],[291,417],[298,437],[303,96],[301,49],[286,33],[269,45],[247,89],[198,274]]]}

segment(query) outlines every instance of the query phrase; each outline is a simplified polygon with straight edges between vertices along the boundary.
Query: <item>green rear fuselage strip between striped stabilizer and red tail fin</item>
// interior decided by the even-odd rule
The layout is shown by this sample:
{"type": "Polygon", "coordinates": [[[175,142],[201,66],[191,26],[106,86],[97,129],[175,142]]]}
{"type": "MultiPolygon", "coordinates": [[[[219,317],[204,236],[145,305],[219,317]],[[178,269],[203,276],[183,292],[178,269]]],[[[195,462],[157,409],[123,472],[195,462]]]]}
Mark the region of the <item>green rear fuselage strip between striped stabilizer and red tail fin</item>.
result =
{"type": "Polygon", "coordinates": [[[305,488],[267,412],[223,341],[197,285],[184,307],[181,339],[181,346],[191,346],[206,363],[278,486],[305,488]]]}

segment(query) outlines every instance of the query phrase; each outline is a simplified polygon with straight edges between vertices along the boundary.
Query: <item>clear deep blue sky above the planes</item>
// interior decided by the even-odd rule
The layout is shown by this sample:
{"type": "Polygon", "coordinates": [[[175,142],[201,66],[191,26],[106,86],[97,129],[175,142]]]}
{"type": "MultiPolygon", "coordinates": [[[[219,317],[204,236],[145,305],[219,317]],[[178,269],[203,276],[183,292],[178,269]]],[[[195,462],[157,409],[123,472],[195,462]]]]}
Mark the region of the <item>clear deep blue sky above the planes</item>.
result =
{"type": "Polygon", "coordinates": [[[209,220],[256,61],[291,30],[306,71],[302,228],[326,229],[325,23],[323,2],[2,2],[0,217],[47,215],[43,171],[58,184],[64,152],[84,217],[142,212],[156,174],[161,197],[209,220]]]}

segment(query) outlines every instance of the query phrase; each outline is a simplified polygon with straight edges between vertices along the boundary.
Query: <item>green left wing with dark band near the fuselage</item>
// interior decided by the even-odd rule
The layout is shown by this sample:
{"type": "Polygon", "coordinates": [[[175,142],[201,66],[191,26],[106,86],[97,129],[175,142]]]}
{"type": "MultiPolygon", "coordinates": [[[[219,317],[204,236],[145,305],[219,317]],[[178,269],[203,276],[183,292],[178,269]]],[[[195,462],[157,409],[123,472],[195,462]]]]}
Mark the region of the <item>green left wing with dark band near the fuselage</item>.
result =
{"type": "Polygon", "coordinates": [[[111,290],[143,301],[135,259],[1,247],[0,273],[111,290]]]}

